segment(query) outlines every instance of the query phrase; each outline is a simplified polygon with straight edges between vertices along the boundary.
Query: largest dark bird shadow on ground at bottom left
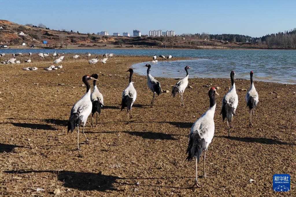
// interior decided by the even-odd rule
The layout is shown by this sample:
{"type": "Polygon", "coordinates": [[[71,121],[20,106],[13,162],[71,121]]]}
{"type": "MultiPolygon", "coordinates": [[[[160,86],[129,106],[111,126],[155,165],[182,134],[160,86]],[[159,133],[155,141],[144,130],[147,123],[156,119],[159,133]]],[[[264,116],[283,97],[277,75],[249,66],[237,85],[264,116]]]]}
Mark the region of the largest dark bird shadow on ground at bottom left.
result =
{"type": "Polygon", "coordinates": [[[102,175],[93,172],[75,172],[75,171],[55,171],[55,170],[9,170],[4,171],[10,174],[24,174],[24,173],[52,173],[57,175],[57,179],[63,182],[63,186],[67,188],[78,189],[82,191],[115,191],[117,190],[113,183],[118,183],[117,176],[102,175]]]}

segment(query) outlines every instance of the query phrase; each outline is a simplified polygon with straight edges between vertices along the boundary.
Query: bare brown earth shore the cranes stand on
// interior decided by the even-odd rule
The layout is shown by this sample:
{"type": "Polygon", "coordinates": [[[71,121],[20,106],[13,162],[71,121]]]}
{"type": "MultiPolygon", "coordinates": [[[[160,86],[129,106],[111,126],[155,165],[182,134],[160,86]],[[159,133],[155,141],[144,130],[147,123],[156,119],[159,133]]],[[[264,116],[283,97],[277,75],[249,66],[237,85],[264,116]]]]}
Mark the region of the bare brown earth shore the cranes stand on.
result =
{"type": "MultiPolygon", "coordinates": [[[[237,91],[239,105],[231,137],[226,137],[219,110],[229,79],[189,79],[193,88],[184,93],[185,106],[178,106],[179,97],[163,93],[150,108],[152,92],[146,76],[135,74],[137,99],[127,125],[126,111],[119,108],[128,84],[125,71],[151,58],[115,56],[93,69],[86,58],[69,57],[66,54],[63,68],[57,71],[43,70],[52,64],[52,57],[40,61],[36,55],[30,64],[1,65],[1,196],[54,196],[56,189],[61,196],[296,196],[295,85],[256,81],[260,102],[252,128],[246,92],[237,91]],[[26,66],[38,66],[38,70],[21,70],[26,66]],[[85,131],[90,142],[80,134],[82,151],[77,151],[76,133],[67,135],[65,124],[72,105],[85,93],[82,76],[93,73],[99,74],[105,106],[95,128],[90,127],[89,117],[85,131]],[[209,105],[204,84],[221,88],[215,136],[206,158],[210,177],[199,179],[202,188],[190,188],[195,167],[193,161],[184,162],[185,152],[192,123],[209,105]],[[273,191],[276,173],[291,175],[291,191],[273,191]],[[44,191],[36,192],[37,188],[44,191]]],[[[177,82],[157,79],[163,90],[177,82]]],[[[235,82],[237,90],[250,84],[243,79],[235,82]]],[[[199,175],[202,164],[201,158],[199,175]]]]}

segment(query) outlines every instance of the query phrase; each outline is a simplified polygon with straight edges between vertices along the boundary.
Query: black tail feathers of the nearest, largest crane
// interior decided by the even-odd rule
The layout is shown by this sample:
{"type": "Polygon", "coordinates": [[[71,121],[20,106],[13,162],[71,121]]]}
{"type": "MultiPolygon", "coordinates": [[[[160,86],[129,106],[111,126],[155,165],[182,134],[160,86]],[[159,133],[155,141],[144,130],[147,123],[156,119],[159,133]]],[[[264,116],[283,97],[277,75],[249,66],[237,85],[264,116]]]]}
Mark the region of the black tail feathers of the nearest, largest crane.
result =
{"type": "Polygon", "coordinates": [[[206,149],[206,142],[205,139],[201,139],[198,132],[190,133],[189,136],[189,143],[186,150],[186,154],[188,153],[187,158],[185,159],[190,161],[195,156],[197,156],[197,162],[200,161],[200,155],[202,151],[206,149]]]}

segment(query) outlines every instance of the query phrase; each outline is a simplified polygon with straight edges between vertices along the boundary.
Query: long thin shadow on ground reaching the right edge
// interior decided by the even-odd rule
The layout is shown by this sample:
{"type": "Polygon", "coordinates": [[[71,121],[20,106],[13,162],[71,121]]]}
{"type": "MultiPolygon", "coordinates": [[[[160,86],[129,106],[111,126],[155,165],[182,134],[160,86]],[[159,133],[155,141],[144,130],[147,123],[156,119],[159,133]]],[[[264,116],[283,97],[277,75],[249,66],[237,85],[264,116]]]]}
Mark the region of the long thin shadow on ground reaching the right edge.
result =
{"type": "Polygon", "coordinates": [[[214,136],[214,137],[226,138],[226,139],[243,141],[243,142],[255,142],[260,144],[295,145],[294,143],[287,143],[287,142],[270,139],[270,138],[228,137],[228,136],[214,136]]]}

